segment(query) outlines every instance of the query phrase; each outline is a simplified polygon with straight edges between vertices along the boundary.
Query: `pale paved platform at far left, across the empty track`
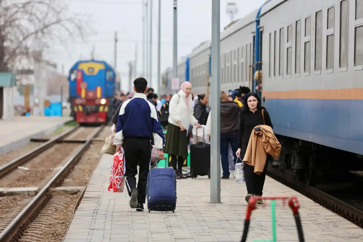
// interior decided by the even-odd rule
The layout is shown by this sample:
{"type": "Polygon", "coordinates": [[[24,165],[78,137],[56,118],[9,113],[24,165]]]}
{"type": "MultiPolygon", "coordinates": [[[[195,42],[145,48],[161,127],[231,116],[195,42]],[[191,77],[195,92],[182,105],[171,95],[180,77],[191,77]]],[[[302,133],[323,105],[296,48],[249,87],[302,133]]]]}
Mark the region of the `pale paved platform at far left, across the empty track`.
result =
{"type": "Polygon", "coordinates": [[[13,120],[0,120],[0,154],[25,146],[31,138],[52,133],[72,117],[16,116],[13,120]]]}

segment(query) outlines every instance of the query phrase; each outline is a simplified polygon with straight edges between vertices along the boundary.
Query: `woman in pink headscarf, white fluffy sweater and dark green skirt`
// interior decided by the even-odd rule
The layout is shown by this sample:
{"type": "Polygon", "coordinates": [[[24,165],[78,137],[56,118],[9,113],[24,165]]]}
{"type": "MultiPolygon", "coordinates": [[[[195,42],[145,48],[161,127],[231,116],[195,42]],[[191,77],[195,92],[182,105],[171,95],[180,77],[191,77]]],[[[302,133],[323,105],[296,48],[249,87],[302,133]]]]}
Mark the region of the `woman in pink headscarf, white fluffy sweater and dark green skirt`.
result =
{"type": "Polygon", "coordinates": [[[180,89],[179,93],[174,94],[169,103],[169,124],[164,148],[164,152],[171,157],[177,179],[187,178],[181,173],[181,167],[185,157],[188,156],[187,130],[189,124],[197,128],[201,127],[193,116],[192,84],[183,82],[180,89]]]}

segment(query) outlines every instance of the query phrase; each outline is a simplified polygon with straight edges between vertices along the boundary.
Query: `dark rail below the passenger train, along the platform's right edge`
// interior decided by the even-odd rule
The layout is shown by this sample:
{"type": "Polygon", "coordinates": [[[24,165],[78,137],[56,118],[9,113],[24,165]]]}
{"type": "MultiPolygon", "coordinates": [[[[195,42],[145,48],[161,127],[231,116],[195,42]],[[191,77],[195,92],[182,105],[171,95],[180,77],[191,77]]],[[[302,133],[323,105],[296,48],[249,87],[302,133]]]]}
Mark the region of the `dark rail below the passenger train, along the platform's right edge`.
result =
{"type": "Polygon", "coordinates": [[[346,220],[363,228],[363,211],[347,204],[346,202],[339,200],[338,198],[331,196],[321,190],[318,190],[312,186],[308,186],[300,181],[297,181],[294,177],[287,175],[284,172],[278,171],[276,168],[268,167],[267,175],[273,179],[281,182],[282,184],[289,186],[311,200],[317,202],[323,207],[331,210],[346,220]]]}

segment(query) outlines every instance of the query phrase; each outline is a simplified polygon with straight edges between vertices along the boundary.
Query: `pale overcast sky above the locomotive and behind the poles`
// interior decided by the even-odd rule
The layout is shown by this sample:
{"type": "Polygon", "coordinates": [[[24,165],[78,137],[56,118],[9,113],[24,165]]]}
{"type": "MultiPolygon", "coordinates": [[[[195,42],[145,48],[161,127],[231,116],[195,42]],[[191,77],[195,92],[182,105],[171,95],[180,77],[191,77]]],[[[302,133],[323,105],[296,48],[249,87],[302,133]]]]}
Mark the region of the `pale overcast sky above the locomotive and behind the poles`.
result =
{"type": "MultiPolygon", "coordinates": [[[[65,43],[68,51],[56,48],[54,60],[61,70],[64,65],[68,73],[79,57],[89,58],[92,46],[95,56],[113,65],[114,32],[118,33],[117,71],[121,73],[122,89],[129,90],[127,62],[135,60],[135,45],[138,46],[137,72],[142,73],[142,0],[66,0],[69,9],[82,15],[91,16],[87,22],[90,34],[86,41],[70,40],[65,43]]],[[[149,2],[151,0],[148,0],[149,2]]],[[[157,78],[157,41],[158,41],[158,0],[153,0],[152,11],[152,84],[157,78]]],[[[228,2],[235,2],[238,7],[235,19],[247,15],[260,7],[265,0],[221,0],[221,30],[230,22],[226,13],[228,2]]],[[[172,66],[173,58],[173,0],[161,0],[161,69],[162,72],[172,66]]],[[[211,0],[178,1],[178,61],[181,56],[191,53],[200,42],[211,38],[211,0]]],[[[150,80],[148,80],[150,82],[150,80]]]]}

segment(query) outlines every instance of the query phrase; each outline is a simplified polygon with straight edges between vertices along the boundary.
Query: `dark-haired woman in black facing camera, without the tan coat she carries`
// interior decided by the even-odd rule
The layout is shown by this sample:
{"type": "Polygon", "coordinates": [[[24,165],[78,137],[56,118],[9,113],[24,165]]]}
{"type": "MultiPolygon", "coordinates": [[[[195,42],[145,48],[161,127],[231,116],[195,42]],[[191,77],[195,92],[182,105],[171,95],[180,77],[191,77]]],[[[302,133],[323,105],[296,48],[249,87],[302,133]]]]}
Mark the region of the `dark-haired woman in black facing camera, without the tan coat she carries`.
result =
{"type": "MultiPolygon", "coordinates": [[[[273,128],[270,115],[267,110],[261,106],[260,98],[256,93],[248,93],[244,99],[244,110],[240,115],[240,131],[238,133],[238,150],[236,152],[237,157],[241,157],[243,160],[248,142],[251,136],[251,132],[257,125],[268,125],[273,128]],[[264,118],[262,116],[264,112],[264,118]]],[[[262,131],[254,131],[257,135],[262,135],[262,131]]],[[[243,170],[245,172],[245,181],[247,187],[246,201],[252,196],[262,196],[262,189],[264,188],[266,170],[268,165],[269,155],[267,156],[264,171],[261,175],[254,173],[254,167],[244,163],[243,170]]],[[[262,204],[262,200],[258,200],[257,204],[262,204]]]]}

